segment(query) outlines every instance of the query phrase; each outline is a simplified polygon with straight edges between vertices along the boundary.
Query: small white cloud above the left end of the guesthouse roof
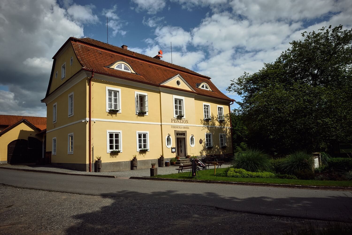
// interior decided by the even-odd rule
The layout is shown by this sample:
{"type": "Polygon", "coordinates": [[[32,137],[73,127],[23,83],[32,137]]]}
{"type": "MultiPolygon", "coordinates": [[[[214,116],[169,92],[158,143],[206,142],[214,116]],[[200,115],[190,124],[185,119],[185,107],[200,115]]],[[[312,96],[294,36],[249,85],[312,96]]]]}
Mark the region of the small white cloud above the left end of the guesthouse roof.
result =
{"type": "Polygon", "coordinates": [[[95,6],[93,4],[90,5],[77,5],[73,4],[67,8],[67,13],[79,23],[97,23],[99,21],[98,16],[93,14],[93,9],[95,6]]]}

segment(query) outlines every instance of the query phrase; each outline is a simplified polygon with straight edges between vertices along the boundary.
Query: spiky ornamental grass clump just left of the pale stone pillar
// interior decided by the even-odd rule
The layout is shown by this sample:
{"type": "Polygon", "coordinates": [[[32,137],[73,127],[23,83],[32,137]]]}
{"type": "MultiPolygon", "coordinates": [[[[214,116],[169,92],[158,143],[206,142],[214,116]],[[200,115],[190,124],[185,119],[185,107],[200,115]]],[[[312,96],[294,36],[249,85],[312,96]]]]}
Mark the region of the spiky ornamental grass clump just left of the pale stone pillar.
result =
{"type": "Polygon", "coordinates": [[[280,164],[279,168],[282,173],[293,174],[297,171],[310,170],[312,171],[312,166],[314,160],[312,155],[307,154],[304,151],[297,151],[290,154],[285,160],[280,164]]]}

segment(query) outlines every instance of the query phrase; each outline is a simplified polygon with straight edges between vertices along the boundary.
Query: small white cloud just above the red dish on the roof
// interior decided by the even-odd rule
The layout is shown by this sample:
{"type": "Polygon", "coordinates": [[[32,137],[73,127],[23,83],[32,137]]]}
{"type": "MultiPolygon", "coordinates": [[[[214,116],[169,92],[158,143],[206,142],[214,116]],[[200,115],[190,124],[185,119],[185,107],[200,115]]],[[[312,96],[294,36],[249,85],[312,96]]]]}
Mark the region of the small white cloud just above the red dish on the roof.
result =
{"type": "Polygon", "coordinates": [[[159,44],[169,47],[170,42],[172,42],[173,47],[180,47],[183,50],[186,50],[187,44],[192,39],[189,32],[176,26],[157,27],[155,35],[157,36],[155,40],[159,44]]]}

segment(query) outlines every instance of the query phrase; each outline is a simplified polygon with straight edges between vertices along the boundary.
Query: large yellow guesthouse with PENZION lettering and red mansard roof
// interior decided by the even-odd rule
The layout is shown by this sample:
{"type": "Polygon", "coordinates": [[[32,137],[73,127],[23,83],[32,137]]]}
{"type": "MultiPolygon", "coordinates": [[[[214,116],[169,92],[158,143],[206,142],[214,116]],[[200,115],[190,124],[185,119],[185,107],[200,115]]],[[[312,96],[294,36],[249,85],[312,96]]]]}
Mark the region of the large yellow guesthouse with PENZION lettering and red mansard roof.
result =
{"type": "Polygon", "coordinates": [[[232,99],[187,68],[90,38],[70,37],[53,57],[45,98],[53,165],[90,171],[150,167],[160,155],[232,153],[232,99]],[[175,150],[173,152],[172,150],[175,150]]]}

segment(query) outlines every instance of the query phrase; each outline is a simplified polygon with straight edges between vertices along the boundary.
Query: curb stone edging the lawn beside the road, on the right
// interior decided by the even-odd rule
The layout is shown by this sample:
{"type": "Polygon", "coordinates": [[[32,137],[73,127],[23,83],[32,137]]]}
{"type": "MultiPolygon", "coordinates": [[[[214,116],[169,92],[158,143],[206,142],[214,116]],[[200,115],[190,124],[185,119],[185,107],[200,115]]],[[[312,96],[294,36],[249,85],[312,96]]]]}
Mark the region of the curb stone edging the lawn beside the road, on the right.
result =
{"type": "Polygon", "coordinates": [[[175,182],[189,182],[189,183],[206,183],[206,184],[231,184],[231,185],[246,185],[246,186],[270,186],[270,187],[281,187],[281,188],[304,188],[304,189],[352,191],[352,187],[339,187],[339,186],[312,186],[312,185],[291,185],[291,184],[245,183],[245,182],[168,179],[168,178],[134,177],[134,176],[130,177],[130,179],[175,181],[175,182]]]}

